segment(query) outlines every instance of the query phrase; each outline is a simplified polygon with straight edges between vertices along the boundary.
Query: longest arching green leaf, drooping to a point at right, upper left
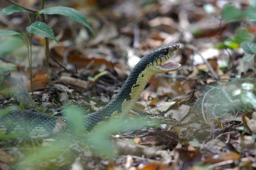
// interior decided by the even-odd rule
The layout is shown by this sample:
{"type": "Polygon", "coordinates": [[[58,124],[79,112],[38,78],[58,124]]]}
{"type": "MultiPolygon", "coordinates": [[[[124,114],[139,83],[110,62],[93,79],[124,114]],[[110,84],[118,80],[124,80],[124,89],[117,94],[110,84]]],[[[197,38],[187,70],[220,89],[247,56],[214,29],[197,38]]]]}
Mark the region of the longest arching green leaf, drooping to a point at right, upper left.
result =
{"type": "Polygon", "coordinates": [[[90,25],[87,22],[84,15],[81,14],[79,11],[77,11],[74,8],[69,8],[69,7],[65,7],[65,6],[55,6],[55,7],[51,7],[51,8],[45,8],[45,9],[39,11],[38,14],[50,14],[50,15],[51,14],[60,14],[60,15],[64,15],[64,16],[70,18],[71,20],[74,20],[78,23],[81,23],[84,26],[86,26],[87,28],[89,28],[90,31],[93,33],[93,36],[95,38],[95,33],[93,32],[93,28],[90,27],[90,25]]]}

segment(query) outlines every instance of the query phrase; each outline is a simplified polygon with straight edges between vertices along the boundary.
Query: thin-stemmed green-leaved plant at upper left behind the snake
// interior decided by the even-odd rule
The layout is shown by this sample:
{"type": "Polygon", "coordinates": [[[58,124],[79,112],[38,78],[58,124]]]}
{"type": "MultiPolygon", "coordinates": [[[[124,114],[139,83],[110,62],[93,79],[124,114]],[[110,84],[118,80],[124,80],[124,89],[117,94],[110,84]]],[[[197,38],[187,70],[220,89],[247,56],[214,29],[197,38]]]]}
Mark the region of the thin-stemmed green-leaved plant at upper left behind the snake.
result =
{"type": "Polygon", "coordinates": [[[93,36],[95,37],[95,34],[93,32],[93,29],[90,27],[89,23],[87,22],[86,18],[83,14],[81,14],[79,11],[64,7],[64,6],[55,6],[51,8],[44,8],[44,0],[41,1],[42,3],[42,10],[37,11],[35,9],[26,8],[23,7],[13,1],[9,1],[14,3],[14,6],[10,6],[7,8],[3,8],[0,10],[0,15],[10,15],[15,12],[25,12],[29,19],[30,26],[26,27],[26,31],[29,32],[29,36],[27,37],[25,34],[17,32],[17,31],[11,31],[11,30],[0,30],[0,37],[6,37],[6,36],[20,36],[23,39],[23,42],[26,44],[27,47],[27,53],[28,53],[28,59],[29,59],[29,75],[30,75],[30,83],[32,87],[32,36],[33,34],[45,37],[45,55],[46,55],[46,71],[48,76],[48,83],[50,84],[50,72],[49,72],[49,40],[48,38],[54,40],[55,42],[59,43],[58,40],[55,38],[54,33],[52,31],[52,28],[47,26],[44,14],[59,14],[64,15],[71,20],[74,20],[78,23],[81,23],[82,25],[89,28],[89,30],[93,33],[93,36]],[[32,11],[36,15],[35,22],[32,23],[29,17],[29,11],[32,11]],[[41,17],[41,20],[43,22],[38,21],[38,17],[41,17]]]}

